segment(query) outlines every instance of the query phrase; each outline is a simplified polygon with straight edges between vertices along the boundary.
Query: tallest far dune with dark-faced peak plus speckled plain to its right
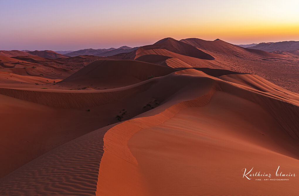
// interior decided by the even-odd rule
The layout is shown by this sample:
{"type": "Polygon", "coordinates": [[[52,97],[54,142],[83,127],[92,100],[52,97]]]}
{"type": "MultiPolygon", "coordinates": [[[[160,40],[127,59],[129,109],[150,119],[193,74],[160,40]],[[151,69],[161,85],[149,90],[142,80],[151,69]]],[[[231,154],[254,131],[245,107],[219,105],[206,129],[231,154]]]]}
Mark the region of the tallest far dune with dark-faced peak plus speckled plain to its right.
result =
{"type": "MultiPolygon", "coordinates": [[[[219,39],[215,41],[205,41],[197,38],[189,38],[179,41],[179,43],[186,42],[197,47],[200,51],[210,54],[214,58],[214,60],[205,60],[188,56],[188,54],[184,52],[178,52],[177,50],[179,50],[180,47],[172,44],[172,42],[177,44],[178,41],[168,38],[163,39],[158,45],[153,44],[140,47],[136,51],[134,59],[151,63],[155,63],[156,61],[158,64],[167,65],[166,59],[165,62],[161,62],[160,59],[162,58],[155,57],[157,58],[155,59],[153,56],[147,57],[147,55],[160,55],[165,56],[165,58],[176,58],[184,62],[180,63],[180,65],[170,65],[170,67],[208,67],[231,70],[234,72],[253,73],[283,88],[299,92],[298,76],[295,74],[299,69],[297,66],[297,55],[289,53],[268,53],[262,50],[242,48],[219,39]],[[172,45],[175,46],[176,50],[171,49],[172,45]]],[[[132,59],[132,54],[127,58],[132,59]]],[[[173,60],[167,61],[171,62],[173,60]]]]}

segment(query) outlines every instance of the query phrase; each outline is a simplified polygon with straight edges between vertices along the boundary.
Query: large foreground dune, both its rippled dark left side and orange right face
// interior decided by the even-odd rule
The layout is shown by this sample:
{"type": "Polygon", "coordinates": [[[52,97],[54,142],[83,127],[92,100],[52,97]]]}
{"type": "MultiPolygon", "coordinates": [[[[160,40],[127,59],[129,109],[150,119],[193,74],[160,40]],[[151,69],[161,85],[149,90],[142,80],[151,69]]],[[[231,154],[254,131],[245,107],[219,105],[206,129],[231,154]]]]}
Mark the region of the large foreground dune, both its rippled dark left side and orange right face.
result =
{"type": "Polygon", "coordinates": [[[194,69],[151,80],[155,82],[142,85],[150,83],[147,88],[152,92],[159,89],[158,107],[27,163],[2,178],[1,194],[248,195],[250,191],[256,195],[263,189],[265,195],[296,195],[286,183],[247,182],[239,177],[245,166],[258,164],[266,170],[275,168],[278,160],[288,170],[298,171],[298,132],[289,124],[298,120],[299,110],[275,97],[280,92],[273,89],[272,95],[265,95],[194,69]],[[85,150],[89,153],[82,159],[85,150]],[[86,161],[90,166],[82,168],[86,161]],[[61,176],[61,170],[68,178],[61,176]]]}

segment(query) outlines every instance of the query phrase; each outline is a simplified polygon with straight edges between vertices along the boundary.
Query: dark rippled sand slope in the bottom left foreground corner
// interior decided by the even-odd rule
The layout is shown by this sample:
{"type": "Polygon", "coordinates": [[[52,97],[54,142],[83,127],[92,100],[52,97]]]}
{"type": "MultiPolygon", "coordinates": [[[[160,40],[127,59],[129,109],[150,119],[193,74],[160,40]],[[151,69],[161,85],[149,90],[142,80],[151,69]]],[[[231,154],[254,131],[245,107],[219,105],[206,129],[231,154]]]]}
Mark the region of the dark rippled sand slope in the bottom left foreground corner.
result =
{"type": "Polygon", "coordinates": [[[0,179],[0,195],[95,195],[107,129],[74,139],[0,179]]]}

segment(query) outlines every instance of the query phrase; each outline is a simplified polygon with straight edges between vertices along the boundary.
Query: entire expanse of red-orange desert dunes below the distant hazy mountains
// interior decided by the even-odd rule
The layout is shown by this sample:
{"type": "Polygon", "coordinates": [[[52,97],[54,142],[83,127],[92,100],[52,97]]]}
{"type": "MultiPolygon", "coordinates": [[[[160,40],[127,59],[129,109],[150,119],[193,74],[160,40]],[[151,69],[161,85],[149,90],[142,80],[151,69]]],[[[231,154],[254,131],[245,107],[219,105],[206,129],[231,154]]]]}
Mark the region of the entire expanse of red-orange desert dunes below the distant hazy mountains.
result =
{"type": "Polygon", "coordinates": [[[295,55],[164,38],[0,60],[0,195],[298,195],[295,55]],[[296,176],[242,175],[278,166],[296,176]]]}

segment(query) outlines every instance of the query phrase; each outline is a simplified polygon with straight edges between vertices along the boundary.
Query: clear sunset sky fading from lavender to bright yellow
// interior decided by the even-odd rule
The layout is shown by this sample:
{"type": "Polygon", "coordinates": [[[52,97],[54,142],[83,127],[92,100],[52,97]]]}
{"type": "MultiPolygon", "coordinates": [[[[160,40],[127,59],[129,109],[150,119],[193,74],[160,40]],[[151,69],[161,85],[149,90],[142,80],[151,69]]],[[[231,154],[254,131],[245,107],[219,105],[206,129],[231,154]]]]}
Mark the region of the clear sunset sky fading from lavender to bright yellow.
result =
{"type": "Polygon", "coordinates": [[[0,0],[0,50],[299,41],[298,0],[0,0]]]}

